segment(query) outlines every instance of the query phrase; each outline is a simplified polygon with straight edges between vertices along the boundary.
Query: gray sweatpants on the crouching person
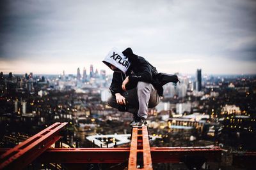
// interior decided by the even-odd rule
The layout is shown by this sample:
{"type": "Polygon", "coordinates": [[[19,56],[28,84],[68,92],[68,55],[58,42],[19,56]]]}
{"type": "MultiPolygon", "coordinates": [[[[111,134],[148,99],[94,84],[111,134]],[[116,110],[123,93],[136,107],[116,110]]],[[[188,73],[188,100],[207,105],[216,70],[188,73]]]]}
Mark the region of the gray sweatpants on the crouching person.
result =
{"type": "MultiPolygon", "coordinates": [[[[154,108],[160,101],[154,86],[143,81],[139,81],[136,88],[123,92],[122,96],[129,103],[128,112],[138,114],[138,117],[145,119],[148,117],[148,108],[154,108]]],[[[115,96],[109,97],[108,104],[113,108],[118,108],[115,96]]]]}

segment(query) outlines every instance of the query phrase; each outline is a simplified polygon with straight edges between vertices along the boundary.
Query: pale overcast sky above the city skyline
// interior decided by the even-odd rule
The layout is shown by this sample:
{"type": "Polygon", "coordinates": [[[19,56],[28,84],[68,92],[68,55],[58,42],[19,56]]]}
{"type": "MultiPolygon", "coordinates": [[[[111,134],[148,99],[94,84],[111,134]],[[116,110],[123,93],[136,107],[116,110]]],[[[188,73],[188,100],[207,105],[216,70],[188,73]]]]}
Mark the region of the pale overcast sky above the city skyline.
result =
{"type": "Polygon", "coordinates": [[[76,73],[113,46],[158,71],[256,73],[256,1],[0,1],[0,71],[76,73]]]}

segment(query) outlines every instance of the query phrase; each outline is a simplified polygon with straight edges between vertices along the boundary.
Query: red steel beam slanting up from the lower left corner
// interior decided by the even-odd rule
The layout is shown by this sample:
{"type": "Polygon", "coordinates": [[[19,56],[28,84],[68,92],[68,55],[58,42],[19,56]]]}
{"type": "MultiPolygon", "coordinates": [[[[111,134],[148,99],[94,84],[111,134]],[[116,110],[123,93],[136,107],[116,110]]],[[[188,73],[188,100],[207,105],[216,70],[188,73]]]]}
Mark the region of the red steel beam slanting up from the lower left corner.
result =
{"type": "Polygon", "coordinates": [[[60,131],[67,123],[57,122],[35,134],[20,145],[3,153],[0,157],[0,169],[23,169],[36,159],[49,146],[61,138],[60,131]]]}

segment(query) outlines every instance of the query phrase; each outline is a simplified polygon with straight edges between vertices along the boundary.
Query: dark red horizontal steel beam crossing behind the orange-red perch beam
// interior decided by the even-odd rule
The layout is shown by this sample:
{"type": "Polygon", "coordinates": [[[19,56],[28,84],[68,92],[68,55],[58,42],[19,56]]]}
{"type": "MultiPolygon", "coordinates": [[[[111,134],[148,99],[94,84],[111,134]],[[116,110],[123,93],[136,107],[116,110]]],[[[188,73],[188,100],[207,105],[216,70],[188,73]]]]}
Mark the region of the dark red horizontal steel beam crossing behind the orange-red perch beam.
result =
{"type": "MultiPolygon", "coordinates": [[[[151,147],[153,163],[178,163],[184,156],[203,156],[207,162],[221,158],[219,147],[151,147]]],[[[38,159],[42,163],[122,163],[129,159],[130,148],[54,148],[38,159]]],[[[130,158],[131,159],[131,158],[130,158]]]]}

